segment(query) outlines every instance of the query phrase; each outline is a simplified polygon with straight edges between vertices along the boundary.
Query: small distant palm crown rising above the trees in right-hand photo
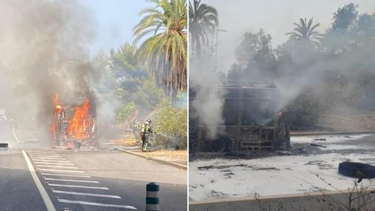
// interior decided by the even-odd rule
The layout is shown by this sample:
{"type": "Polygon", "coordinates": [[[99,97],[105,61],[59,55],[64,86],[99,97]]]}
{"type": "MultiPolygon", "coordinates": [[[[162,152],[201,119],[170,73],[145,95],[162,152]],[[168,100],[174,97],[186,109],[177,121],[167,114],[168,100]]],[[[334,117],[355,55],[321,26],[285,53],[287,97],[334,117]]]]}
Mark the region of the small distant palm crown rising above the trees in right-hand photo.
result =
{"type": "Polygon", "coordinates": [[[288,42],[307,42],[313,45],[320,45],[320,41],[323,38],[323,35],[317,31],[314,31],[317,27],[320,26],[320,23],[312,26],[313,19],[311,18],[307,22],[306,18],[300,18],[299,23],[293,23],[296,27],[293,29],[293,32],[288,32],[285,35],[289,35],[288,42]]]}

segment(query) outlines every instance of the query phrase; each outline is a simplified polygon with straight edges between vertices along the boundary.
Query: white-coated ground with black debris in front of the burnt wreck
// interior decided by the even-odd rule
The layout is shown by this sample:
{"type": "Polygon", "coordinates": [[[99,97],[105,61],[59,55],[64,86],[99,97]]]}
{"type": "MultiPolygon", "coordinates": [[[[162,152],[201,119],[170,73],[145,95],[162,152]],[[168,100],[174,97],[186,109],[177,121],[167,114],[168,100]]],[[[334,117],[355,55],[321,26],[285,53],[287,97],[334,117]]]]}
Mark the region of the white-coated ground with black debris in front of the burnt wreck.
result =
{"type": "Polygon", "coordinates": [[[260,196],[307,193],[334,190],[333,187],[344,190],[353,187],[355,178],[340,175],[339,163],[375,164],[374,134],[296,136],[291,137],[291,142],[293,150],[290,152],[240,158],[196,155],[189,163],[190,200],[249,197],[255,193],[260,196]],[[311,143],[325,148],[311,146],[311,143]]]}

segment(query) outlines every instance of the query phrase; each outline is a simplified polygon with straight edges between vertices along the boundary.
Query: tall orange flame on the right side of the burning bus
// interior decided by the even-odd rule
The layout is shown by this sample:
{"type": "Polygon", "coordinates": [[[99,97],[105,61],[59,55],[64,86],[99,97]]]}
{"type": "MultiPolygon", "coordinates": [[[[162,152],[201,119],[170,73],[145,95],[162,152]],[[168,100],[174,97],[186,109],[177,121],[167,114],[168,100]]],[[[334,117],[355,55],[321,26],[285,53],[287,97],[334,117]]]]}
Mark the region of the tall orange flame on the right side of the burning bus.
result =
{"type": "Polygon", "coordinates": [[[75,139],[85,139],[90,110],[90,101],[85,99],[83,105],[75,108],[74,117],[68,127],[68,137],[75,139]]]}

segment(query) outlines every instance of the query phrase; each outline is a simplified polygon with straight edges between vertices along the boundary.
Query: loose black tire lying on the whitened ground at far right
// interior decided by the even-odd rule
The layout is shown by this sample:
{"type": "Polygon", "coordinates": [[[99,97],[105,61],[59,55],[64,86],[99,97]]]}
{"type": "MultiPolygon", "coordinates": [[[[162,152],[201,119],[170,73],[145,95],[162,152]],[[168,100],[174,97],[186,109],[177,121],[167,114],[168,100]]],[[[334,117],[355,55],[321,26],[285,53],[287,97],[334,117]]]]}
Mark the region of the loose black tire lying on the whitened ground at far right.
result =
{"type": "Polygon", "coordinates": [[[365,163],[342,162],[339,164],[339,173],[354,178],[375,178],[375,166],[365,163]]]}

